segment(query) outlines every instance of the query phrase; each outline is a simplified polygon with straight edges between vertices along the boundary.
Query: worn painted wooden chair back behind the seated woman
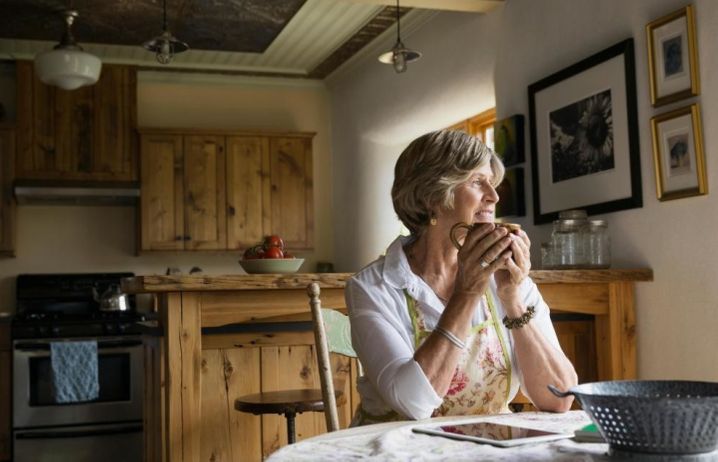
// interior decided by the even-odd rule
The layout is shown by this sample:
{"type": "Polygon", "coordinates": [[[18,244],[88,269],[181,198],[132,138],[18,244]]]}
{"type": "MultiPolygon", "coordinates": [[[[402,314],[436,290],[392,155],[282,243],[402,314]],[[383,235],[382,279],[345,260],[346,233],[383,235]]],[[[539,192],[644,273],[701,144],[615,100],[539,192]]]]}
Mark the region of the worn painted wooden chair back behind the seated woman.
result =
{"type": "Polygon", "coordinates": [[[307,287],[309,306],[312,310],[314,324],[314,343],[317,348],[317,365],[319,367],[319,381],[322,386],[322,400],[324,401],[324,418],[327,422],[327,431],[339,430],[339,414],[337,413],[337,400],[334,393],[334,379],[329,353],[338,353],[343,356],[356,358],[357,354],[352,347],[349,317],[339,311],[322,308],[319,299],[319,284],[313,282],[307,287]]]}

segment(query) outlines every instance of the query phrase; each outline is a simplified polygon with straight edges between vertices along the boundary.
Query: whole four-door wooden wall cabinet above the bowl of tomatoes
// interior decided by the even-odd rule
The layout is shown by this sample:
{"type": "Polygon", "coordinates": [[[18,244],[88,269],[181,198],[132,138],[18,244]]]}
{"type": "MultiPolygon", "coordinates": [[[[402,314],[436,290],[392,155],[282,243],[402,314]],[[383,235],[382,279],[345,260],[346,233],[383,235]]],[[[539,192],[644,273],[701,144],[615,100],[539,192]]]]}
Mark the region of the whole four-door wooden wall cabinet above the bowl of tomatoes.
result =
{"type": "Polygon", "coordinates": [[[141,250],[311,249],[313,136],[143,129],[141,250]]]}

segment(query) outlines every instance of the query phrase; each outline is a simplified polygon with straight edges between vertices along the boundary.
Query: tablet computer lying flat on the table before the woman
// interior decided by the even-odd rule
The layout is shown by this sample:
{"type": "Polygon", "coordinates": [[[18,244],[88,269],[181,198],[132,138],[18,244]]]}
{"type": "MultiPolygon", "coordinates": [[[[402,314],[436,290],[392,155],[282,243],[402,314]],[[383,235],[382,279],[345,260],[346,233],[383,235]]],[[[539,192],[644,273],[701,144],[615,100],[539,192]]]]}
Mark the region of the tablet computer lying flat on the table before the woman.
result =
{"type": "Polygon", "coordinates": [[[427,435],[493,444],[505,448],[573,437],[573,433],[548,432],[490,422],[420,426],[414,427],[413,430],[427,435]]]}

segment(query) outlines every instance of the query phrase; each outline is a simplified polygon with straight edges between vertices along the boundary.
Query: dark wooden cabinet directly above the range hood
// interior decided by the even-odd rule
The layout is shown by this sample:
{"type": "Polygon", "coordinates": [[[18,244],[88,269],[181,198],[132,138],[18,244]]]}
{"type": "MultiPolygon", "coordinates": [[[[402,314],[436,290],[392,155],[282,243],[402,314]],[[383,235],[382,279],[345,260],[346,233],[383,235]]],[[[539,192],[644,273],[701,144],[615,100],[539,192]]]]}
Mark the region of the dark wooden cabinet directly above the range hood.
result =
{"type": "Polygon", "coordinates": [[[45,85],[17,62],[17,163],[21,180],[137,180],[137,74],[104,64],[95,85],[45,85]]]}

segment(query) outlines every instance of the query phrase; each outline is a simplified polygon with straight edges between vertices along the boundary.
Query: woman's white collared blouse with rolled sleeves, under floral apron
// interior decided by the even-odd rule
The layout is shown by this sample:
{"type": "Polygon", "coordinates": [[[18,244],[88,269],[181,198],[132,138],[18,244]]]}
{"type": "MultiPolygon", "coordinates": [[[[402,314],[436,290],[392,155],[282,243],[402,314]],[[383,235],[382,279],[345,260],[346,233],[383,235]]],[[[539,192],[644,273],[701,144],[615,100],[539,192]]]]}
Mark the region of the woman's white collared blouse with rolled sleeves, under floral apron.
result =
{"type": "MultiPolygon", "coordinates": [[[[393,409],[410,419],[425,419],[441,405],[443,397],[436,394],[424,371],[414,361],[413,328],[404,290],[416,300],[416,308],[424,315],[427,329],[434,329],[444,305],[424,280],[411,271],[403,249],[408,239],[399,237],[394,240],[385,256],[349,279],[345,295],[352,344],[364,367],[364,376],[357,382],[362,408],[376,416],[393,409]]],[[[493,278],[489,290],[497,315],[502,319],[505,312],[496,296],[493,278]]],[[[531,322],[539,327],[551,344],[560,349],[549,308],[536,284],[526,278],[519,290],[523,303],[536,309],[536,316],[531,322]]],[[[472,326],[484,320],[483,310],[477,305],[472,326]]],[[[509,397],[513,399],[523,380],[513,354],[513,338],[503,324],[500,327],[501,334],[509,340],[506,343],[511,350],[509,397]]]]}

